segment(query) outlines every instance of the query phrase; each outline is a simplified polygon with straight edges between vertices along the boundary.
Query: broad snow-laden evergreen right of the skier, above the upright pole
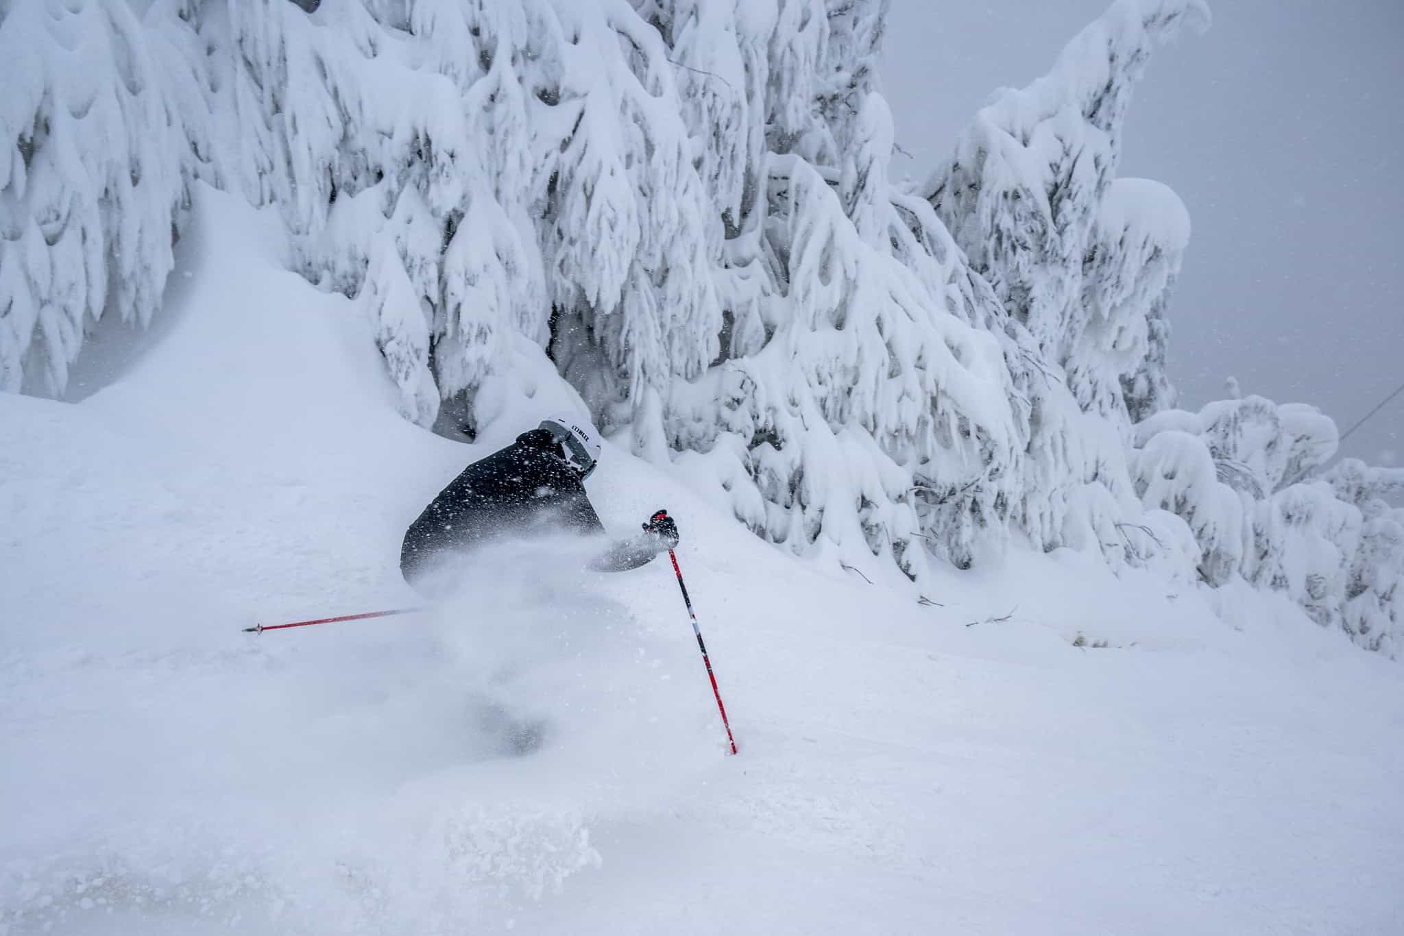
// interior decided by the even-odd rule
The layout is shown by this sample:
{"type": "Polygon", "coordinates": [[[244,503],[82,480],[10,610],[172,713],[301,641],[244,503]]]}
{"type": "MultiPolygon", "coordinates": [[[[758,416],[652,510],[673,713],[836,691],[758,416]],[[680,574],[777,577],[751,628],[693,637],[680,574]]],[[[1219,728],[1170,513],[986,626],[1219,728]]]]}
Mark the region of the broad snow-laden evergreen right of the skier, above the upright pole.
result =
{"type": "MultiPolygon", "coordinates": [[[[681,35],[667,18],[681,7],[650,10],[681,35]]],[[[868,549],[917,575],[924,556],[963,566],[1009,535],[1029,413],[1004,310],[929,205],[887,182],[892,116],[872,67],[883,11],[786,3],[765,24],[768,94],[747,98],[771,150],[761,199],[723,246],[722,361],[674,386],[670,435],[694,452],[680,464],[719,479],[758,533],[799,551],[868,549]]],[[[755,25],[737,14],[708,45],[758,48],[755,25]]]]}

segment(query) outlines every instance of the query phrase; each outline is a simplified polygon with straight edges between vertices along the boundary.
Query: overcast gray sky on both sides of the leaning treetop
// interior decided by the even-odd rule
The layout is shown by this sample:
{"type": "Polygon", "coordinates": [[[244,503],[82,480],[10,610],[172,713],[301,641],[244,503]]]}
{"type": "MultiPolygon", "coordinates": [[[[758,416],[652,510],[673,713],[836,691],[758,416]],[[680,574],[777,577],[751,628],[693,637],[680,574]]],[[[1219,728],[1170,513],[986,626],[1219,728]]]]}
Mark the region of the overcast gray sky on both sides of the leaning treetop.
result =
{"type": "MultiPolygon", "coordinates": [[[[1109,0],[892,0],[883,87],[922,178],[1000,86],[1045,73],[1109,0]]],[[[1244,393],[1344,432],[1404,383],[1404,0],[1210,0],[1151,60],[1123,175],[1168,182],[1193,237],[1171,303],[1181,406],[1244,393]]],[[[1404,464],[1404,394],[1344,455],[1404,464]]]]}

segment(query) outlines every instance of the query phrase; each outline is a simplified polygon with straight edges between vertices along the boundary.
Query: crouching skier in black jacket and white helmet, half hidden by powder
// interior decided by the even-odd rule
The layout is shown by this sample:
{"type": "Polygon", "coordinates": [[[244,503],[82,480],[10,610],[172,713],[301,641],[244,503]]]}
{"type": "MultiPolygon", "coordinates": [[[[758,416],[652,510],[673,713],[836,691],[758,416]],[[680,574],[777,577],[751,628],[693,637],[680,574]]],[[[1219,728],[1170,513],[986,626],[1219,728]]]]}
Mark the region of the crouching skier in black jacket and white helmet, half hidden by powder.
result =
{"type": "MultiPolygon", "coordinates": [[[[439,591],[427,578],[448,553],[503,536],[602,535],[605,528],[581,484],[598,462],[600,442],[590,424],[569,417],[545,420],[505,449],[473,462],[406,530],[400,547],[404,581],[421,592],[439,591]]],[[[667,511],[654,511],[643,530],[612,543],[590,567],[637,568],[678,544],[678,526],[667,511]]]]}

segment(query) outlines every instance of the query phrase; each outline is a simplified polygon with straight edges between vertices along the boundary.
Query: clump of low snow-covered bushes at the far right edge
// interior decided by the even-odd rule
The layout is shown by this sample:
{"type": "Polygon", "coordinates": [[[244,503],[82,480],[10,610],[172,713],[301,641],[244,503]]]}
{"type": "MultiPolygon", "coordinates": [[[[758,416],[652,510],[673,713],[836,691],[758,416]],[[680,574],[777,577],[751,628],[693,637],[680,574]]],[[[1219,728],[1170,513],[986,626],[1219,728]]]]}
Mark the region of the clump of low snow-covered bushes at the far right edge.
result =
{"type": "Polygon", "coordinates": [[[1134,429],[1136,490],[1182,518],[1212,585],[1236,575],[1285,592],[1317,623],[1398,653],[1404,470],[1348,459],[1325,474],[1335,424],[1314,407],[1258,396],[1199,413],[1164,410],[1134,429]]]}

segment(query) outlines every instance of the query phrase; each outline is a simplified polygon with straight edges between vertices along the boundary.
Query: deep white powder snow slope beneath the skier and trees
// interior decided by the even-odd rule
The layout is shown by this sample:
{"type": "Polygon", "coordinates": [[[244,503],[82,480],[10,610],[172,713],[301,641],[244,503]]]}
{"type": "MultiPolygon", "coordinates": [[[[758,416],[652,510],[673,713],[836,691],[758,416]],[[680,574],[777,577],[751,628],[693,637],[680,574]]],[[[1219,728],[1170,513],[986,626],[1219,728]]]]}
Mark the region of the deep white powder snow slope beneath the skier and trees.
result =
{"type": "Polygon", "coordinates": [[[918,605],[609,448],[739,756],[663,563],[504,550],[430,613],[240,633],[413,603],[404,525],[559,401],[406,424],[351,303],[198,218],[154,349],[0,396],[0,932],[1404,932],[1401,671],[1252,592],[1016,554],[918,605]]]}

